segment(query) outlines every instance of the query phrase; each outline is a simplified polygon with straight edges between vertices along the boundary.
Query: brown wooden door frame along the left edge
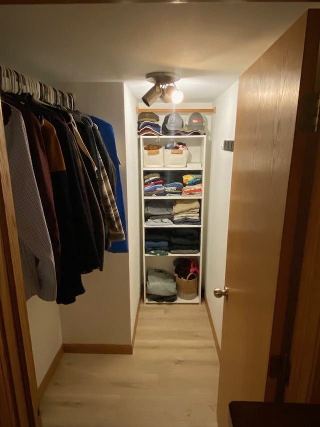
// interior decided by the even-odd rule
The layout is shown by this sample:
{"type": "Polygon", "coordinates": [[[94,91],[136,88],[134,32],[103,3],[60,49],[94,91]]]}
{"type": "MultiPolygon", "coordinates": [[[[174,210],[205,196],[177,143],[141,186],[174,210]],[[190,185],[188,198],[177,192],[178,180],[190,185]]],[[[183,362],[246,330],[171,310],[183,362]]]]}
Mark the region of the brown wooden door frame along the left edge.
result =
{"type": "Polygon", "coordinates": [[[0,105],[0,382],[7,406],[0,425],[40,427],[36,377],[24,294],[0,105]]]}

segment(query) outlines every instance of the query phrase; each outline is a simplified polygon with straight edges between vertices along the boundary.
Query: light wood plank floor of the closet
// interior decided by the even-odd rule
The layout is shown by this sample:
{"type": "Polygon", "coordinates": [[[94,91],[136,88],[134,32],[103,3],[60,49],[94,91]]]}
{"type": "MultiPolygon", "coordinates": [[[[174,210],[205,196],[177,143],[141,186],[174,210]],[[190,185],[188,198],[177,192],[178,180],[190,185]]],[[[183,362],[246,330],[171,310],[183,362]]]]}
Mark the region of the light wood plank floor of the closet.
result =
{"type": "Polygon", "coordinates": [[[62,356],[43,427],[216,427],[218,369],[204,304],[142,304],[133,355],[62,356]]]}

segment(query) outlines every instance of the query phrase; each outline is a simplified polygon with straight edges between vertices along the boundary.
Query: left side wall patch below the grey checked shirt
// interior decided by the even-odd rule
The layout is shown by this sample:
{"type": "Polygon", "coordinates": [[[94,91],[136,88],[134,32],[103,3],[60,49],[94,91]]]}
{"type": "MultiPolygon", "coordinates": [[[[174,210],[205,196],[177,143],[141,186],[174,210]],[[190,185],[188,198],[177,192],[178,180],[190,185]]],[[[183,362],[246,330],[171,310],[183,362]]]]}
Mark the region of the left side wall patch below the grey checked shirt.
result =
{"type": "Polygon", "coordinates": [[[26,302],[37,386],[62,344],[59,307],[36,295],[26,302]]]}

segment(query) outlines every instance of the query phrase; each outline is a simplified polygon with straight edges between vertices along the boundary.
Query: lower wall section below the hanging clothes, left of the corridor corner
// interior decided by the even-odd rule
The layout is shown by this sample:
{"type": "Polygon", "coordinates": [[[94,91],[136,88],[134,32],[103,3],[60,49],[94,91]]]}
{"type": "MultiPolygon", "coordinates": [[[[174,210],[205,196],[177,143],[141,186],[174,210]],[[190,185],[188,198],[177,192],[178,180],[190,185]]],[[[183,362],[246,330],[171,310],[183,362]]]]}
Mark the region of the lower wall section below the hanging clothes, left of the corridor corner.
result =
{"type": "Polygon", "coordinates": [[[86,290],[59,305],[63,343],[130,344],[128,254],[104,252],[103,271],[82,275],[86,290]]]}

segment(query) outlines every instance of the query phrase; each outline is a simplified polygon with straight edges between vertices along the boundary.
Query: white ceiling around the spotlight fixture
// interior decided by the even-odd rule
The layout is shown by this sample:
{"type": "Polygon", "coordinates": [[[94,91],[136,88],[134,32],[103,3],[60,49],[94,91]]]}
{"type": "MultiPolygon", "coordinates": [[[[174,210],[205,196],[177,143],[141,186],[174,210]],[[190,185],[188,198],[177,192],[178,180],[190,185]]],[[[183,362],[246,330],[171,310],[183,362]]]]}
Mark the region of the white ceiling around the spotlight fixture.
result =
{"type": "Polygon", "coordinates": [[[0,6],[0,64],[50,82],[127,82],[173,71],[185,102],[212,102],[312,3],[0,6]]]}

